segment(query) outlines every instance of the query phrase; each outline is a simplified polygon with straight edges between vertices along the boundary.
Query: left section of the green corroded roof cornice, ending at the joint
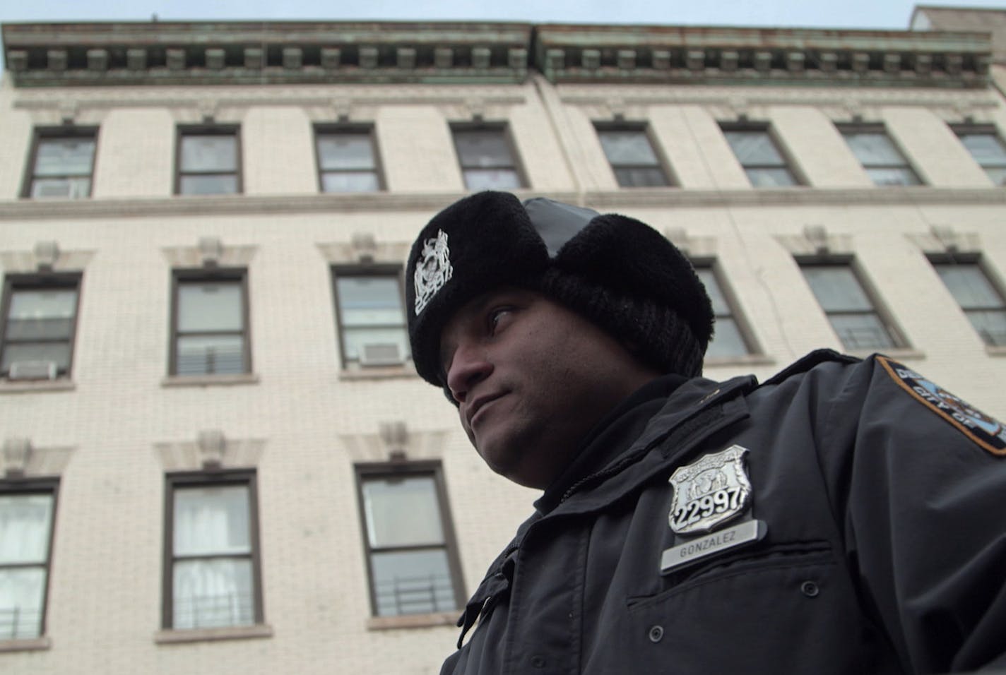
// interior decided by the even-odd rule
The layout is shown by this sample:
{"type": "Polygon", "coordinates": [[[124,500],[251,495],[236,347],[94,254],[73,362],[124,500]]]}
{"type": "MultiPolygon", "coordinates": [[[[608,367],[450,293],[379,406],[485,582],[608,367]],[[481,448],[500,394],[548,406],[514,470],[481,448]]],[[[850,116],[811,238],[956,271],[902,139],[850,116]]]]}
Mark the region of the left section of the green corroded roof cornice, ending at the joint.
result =
{"type": "Polygon", "coordinates": [[[523,81],[524,23],[3,26],[17,87],[523,81]]]}

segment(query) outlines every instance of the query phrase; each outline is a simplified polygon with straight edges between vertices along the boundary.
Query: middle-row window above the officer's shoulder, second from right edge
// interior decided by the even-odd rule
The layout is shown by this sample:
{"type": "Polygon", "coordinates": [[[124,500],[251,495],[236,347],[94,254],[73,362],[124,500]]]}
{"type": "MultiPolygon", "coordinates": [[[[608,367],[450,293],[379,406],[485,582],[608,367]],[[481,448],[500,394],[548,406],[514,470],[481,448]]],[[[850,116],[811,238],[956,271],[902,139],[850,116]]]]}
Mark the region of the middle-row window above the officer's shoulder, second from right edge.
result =
{"type": "Polygon", "coordinates": [[[846,349],[902,346],[893,329],[877,313],[850,265],[805,264],[801,270],[846,349]]]}

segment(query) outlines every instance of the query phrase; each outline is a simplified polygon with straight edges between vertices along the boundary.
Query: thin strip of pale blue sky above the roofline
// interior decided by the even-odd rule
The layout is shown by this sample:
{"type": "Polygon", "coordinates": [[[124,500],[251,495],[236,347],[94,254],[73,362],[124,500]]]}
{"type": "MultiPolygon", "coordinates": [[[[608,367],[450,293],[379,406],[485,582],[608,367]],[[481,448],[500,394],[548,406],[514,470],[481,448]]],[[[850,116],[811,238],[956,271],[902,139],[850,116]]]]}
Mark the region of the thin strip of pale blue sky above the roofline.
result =
{"type": "MultiPolygon", "coordinates": [[[[914,0],[0,0],[5,21],[448,20],[904,29],[914,0]]],[[[1006,0],[917,3],[1006,8],[1006,0]]]]}

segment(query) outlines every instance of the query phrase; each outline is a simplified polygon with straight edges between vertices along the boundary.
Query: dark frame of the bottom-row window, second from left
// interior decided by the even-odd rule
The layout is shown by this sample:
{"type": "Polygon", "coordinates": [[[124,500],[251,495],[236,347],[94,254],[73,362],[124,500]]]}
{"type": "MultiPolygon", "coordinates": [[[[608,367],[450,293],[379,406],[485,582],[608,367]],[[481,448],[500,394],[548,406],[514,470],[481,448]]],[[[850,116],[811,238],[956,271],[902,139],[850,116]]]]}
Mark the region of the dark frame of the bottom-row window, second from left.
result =
{"type": "MultiPolygon", "coordinates": [[[[258,475],[254,469],[218,470],[218,471],[184,471],[165,474],[164,481],[164,552],[162,558],[161,579],[161,628],[166,631],[203,631],[210,629],[239,628],[243,624],[231,626],[175,628],[174,626],[174,571],[178,556],[174,546],[175,491],[179,488],[245,486],[248,495],[248,541],[252,547],[253,600],[255,602],[253,626],[265,624],[265,607],[262,583],[262,540],[259,535],[259,487],[258,475]]],[[[183,556],[181,559],[208,557],[238,557],[235,555],[216,554],[202,556],[183,556]]],[[[241,556],[243,557],[243,556],[241,556]]]]}

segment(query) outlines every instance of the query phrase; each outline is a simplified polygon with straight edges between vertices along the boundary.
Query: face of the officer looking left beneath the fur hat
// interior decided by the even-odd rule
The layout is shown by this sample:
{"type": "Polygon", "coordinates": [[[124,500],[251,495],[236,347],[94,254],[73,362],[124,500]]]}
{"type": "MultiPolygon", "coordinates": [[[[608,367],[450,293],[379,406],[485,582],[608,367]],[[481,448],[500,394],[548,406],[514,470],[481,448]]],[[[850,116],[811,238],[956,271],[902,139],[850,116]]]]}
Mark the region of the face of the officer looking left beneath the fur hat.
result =
{"type": "Polygon", "coordinates": [[[479,455],[533,488],[557,478],[591,428],[658,374],[578,314],[511,288],[455,314],[441,363],[479,455]]]}

